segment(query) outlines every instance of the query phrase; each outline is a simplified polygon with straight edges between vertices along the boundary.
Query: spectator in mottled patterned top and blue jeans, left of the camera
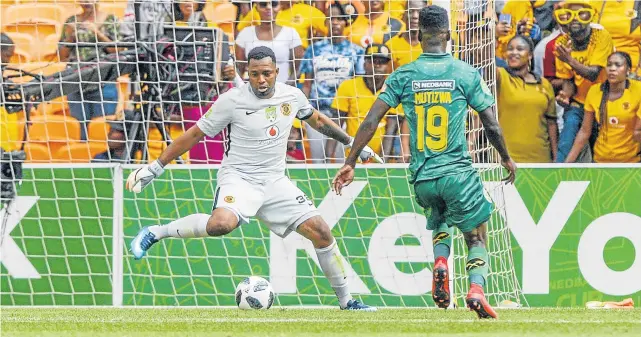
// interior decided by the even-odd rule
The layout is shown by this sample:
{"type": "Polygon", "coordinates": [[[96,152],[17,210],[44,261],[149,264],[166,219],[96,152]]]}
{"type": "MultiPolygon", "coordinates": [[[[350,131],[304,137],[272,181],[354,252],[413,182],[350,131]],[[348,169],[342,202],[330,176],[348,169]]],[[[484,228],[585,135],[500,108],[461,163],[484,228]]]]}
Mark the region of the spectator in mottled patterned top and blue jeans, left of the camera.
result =
{"type": "MultiPolygon", "coordinates": [[[[80,1],[82,13],[72,15],[62,28],[58,52],[60,61],[81,66],[99,62],[105,54],[115,53],[113,42],[118,32],[118,18],[100,11],[97,0],[80,1]],[[79,45],[80,44],[80,45],[79,45]]],[[[80,137],[87,139],[87,123],[94,117],[113,115],[118,103],[115,83],[83,83],[83,90],[67,95],[71,116],[81,123],[80,137]]]]}

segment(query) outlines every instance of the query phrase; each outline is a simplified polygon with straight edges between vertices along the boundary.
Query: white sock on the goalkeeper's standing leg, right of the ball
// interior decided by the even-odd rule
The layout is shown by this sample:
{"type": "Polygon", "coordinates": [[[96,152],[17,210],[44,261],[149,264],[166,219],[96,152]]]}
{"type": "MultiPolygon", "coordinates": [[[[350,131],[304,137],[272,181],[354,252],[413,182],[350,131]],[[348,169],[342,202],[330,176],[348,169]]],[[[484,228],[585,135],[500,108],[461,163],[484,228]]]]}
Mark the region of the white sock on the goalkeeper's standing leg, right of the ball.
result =
{"type": "Polygon", "coordinates": [[[343,267],[343,256],[336,245],[336,240],[328,247],[316,249],[316,256],[325,277],[327,277],[329,284],[336,292],[336,296],[338,296],[341,308],[345,308],[347,302],[352,299],[352,294],[350,294],[347,287],[347,274],[343,267]]]}

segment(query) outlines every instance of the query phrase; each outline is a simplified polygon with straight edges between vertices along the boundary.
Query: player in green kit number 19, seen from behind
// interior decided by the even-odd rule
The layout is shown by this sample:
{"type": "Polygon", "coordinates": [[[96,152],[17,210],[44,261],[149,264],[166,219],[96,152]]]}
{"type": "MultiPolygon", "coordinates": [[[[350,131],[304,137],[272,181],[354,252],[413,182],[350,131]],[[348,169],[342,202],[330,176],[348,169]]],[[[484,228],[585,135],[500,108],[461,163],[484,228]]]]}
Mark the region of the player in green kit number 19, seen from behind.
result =
{"type": "Polygon", "coordinates": [[[450,40],[447,11],[438,6],[421,10],[419,18],[423,54],[400,67],[386,81],[382,92],[361,124],[345,165],[333,188],[341,189],[354,179],[358,153],[372,138],[390,107],[403,104],[410,126],[410,183],[416,199],[428,215],[432,230],[434,271],[432,297],[437,306],[450,304],[447,258],[453,228],[463,232],[468,247],[466,270],[470,280],[467,306],[479,318],[498,318],[483,293],[488,274],[487,221],[492,203],[472,167],[465,137],[468,105],[478,111],[488,140],[509,171],[504,179],[514,183],[516,164],[510,158],[494,115],[494,98],[477,69],[448,54],[450,40]]]}

